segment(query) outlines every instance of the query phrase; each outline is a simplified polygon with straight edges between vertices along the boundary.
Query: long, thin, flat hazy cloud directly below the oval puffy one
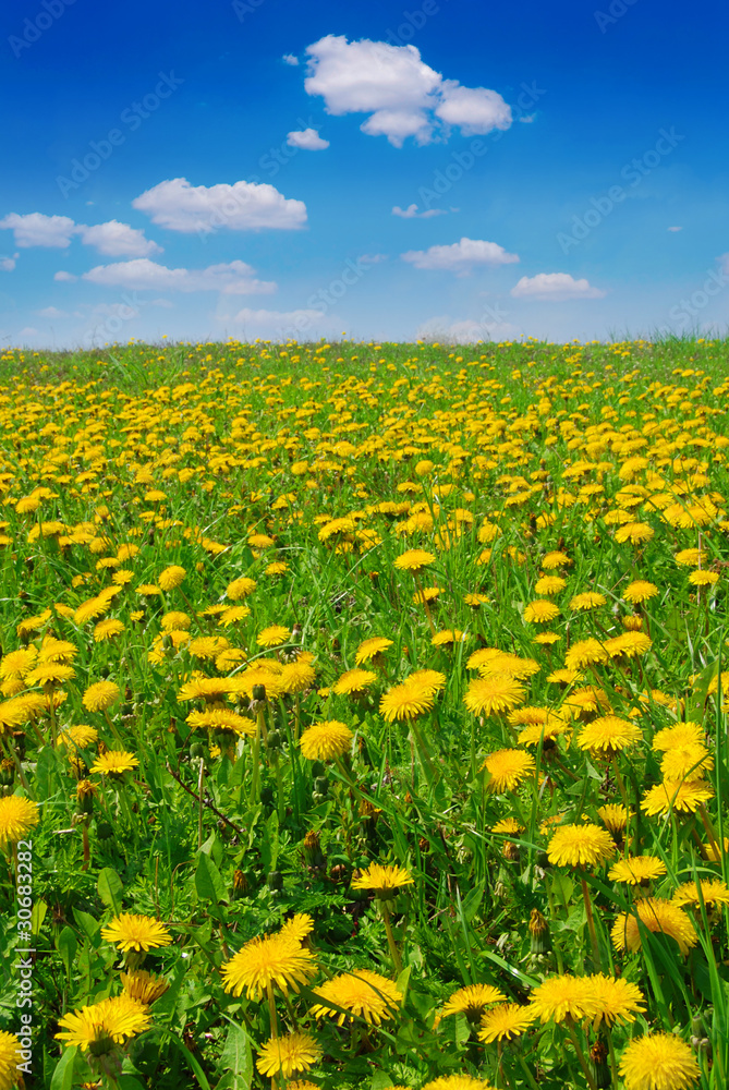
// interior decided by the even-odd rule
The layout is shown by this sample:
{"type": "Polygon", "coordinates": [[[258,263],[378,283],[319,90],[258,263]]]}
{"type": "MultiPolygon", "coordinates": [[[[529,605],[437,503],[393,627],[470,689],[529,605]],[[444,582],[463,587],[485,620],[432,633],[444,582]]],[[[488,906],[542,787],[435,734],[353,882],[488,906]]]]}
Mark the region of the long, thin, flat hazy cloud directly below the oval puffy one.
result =
{"type": "Polygon", "coordinates": [[[209,265],[205,269],[169,269],[147,257],[113,265],[97,265],[83,279],[110,288],[144,291],[220,291],[226,295],[263,295],[276,291],[272,281],[256,280],[245,262],[209,265]]]}

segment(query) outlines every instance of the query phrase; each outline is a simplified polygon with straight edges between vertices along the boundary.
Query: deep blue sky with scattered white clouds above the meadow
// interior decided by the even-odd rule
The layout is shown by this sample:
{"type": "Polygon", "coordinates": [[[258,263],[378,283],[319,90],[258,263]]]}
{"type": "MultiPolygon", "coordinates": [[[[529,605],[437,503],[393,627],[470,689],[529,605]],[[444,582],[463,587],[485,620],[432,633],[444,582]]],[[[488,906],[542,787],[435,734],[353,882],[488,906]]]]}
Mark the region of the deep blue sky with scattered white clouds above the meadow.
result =
{"type": "Polygon", "coordinates": [[[3,347],[727,327],[722,0],[9,8],[3,347]]]}

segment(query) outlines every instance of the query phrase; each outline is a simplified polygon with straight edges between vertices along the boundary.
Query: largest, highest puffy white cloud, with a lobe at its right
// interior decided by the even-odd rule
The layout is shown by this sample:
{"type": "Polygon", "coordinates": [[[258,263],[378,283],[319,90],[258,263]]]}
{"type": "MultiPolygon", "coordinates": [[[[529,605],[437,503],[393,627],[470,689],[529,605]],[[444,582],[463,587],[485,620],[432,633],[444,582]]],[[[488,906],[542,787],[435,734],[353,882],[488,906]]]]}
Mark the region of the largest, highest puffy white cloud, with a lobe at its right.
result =
{"type": "Polygon", "coordinates": [[[415,46],[328,34],[306,52],[306,93],[320,95],[328,113],[368,113],[362,131],[387,136],[394,147],[409,136],[428,144],[438,132],[447,135],[450,125],[471,135],[511,124],[511,110],[499,94],[444,80],[415,46]]]}

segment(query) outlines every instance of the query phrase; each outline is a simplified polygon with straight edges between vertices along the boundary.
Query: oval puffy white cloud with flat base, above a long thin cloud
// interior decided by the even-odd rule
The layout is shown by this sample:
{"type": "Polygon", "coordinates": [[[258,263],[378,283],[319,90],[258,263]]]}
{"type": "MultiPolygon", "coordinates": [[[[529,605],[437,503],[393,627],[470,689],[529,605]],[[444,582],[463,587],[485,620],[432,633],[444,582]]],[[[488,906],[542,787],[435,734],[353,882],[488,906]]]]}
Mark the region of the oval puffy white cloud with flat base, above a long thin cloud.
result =
{"type": "Polygon", "coordinates": [[[132,206],[150,216],[153,223],[186,234],[208,233],[220,227],[230,231],[293,229],[306,222],[304,202],[287,199],[267,183],[220,183],[208,187],[191,185],[186,178],[172,178],[141,194],[132,206]]]}

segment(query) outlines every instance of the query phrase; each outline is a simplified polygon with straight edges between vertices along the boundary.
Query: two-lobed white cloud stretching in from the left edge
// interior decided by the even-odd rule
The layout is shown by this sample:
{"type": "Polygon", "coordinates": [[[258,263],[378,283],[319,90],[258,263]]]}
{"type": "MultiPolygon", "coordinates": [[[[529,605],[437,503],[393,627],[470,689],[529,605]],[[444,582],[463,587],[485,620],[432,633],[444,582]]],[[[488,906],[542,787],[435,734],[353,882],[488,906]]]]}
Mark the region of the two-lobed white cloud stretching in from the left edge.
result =
{"type": "Polygon", "coordinates": [[[71,239],[80,235],[85,246],[95,246],[100,254],[109,257],[148,257],[149,254],[160,254],[161,246],[145,239],[144,231],[110,219],[106,223],[75,223],[68,216],[44,216],[33,211],[27,216],[11,213],[0,220],[0,228],[14,232],[17,246],[47,246],[65,250],[71,245],[71,239]]]}

